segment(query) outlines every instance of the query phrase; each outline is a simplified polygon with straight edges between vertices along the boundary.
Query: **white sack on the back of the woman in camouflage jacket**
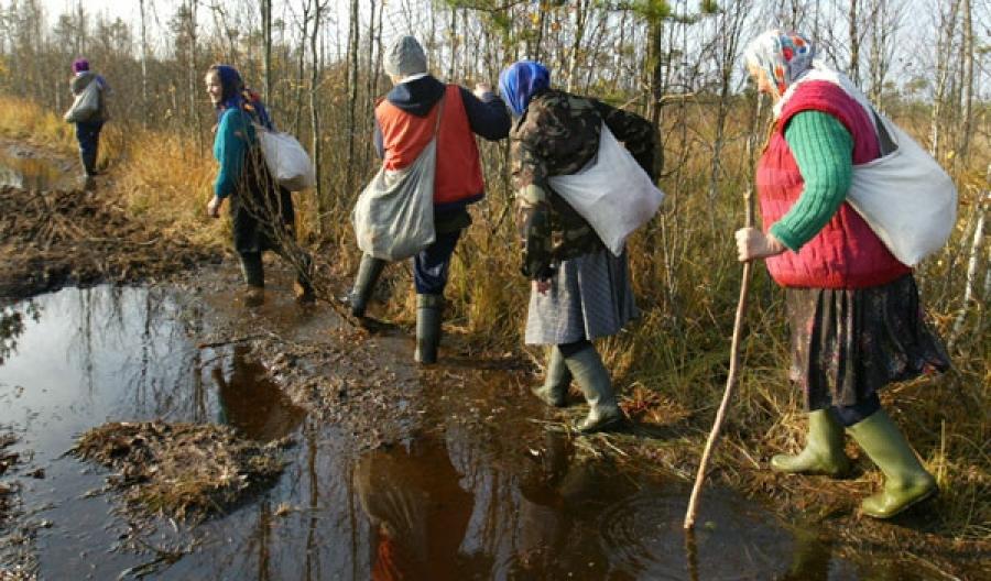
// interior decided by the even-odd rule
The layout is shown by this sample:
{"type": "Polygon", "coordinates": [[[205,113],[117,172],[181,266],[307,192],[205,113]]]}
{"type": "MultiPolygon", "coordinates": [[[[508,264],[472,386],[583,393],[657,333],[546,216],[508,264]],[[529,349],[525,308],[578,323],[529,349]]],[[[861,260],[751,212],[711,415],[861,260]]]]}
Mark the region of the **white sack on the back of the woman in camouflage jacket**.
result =
{"type": "Polygon", "coordinates": [[[654,217],[664,199],[664,193],[606,123],[596,157],[578,173],[552,176],[548,182],[617,256],[627,238],[654,217]]]}

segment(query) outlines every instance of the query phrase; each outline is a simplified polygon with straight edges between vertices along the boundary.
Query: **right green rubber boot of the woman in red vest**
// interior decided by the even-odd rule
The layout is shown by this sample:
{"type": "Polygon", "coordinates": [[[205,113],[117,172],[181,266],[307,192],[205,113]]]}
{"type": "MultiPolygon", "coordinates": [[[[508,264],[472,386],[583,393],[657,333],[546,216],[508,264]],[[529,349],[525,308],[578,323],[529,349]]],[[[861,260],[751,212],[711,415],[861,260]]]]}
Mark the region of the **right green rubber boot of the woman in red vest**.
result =
{"type": "Polygon", "coordinates": [[[847,430],[885,478],[882,491],[860,503],[863,514],[891,518],[938,492],[936,479],[922,465],[908,440],[883,409],[847,430]]]}

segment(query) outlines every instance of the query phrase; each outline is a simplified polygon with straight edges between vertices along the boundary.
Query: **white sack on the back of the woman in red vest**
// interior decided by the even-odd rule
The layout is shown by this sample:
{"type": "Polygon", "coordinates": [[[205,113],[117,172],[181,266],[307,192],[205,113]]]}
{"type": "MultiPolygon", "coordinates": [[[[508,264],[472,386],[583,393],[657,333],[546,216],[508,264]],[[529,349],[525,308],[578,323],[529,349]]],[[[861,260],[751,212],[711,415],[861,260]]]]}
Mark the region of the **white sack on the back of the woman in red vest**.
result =
{"type": "Polygon", "coordinates": [[[847,199],[900,262],[915,266],[952,233],[957,188],[928,152],[887,118],[874,114],[882,144],[893,145],[893,151],[853,166],[847,199]]]}

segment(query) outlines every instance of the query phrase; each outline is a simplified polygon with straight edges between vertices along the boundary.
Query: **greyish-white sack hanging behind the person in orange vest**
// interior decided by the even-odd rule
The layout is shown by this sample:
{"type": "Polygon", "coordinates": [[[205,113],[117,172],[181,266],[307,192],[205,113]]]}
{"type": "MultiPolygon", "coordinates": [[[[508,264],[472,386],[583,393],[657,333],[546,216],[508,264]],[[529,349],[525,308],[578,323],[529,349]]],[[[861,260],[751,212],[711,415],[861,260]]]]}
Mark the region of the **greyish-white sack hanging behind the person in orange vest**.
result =
{"type": "Polygon", "coordinates": [[[351,216],[358,248],[388,261],[407,259],[434,242],[437,139],[407,167],[382,167],[358,196],[351,216]]]}

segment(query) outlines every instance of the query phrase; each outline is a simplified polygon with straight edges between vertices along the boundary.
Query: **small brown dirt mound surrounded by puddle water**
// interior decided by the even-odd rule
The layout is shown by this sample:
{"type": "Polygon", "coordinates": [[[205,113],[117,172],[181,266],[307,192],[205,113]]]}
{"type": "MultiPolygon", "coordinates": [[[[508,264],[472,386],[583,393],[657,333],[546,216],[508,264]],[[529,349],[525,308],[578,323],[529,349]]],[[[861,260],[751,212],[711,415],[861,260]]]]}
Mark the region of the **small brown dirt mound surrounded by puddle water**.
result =
{"type": "Polygon", "coordinates": [[[290,443],[244,440],[227,426],[109,423],[84,434],[73,452],[116,470],[107,482],[132,507],[196,520],[273,483],[290,443]]]}

